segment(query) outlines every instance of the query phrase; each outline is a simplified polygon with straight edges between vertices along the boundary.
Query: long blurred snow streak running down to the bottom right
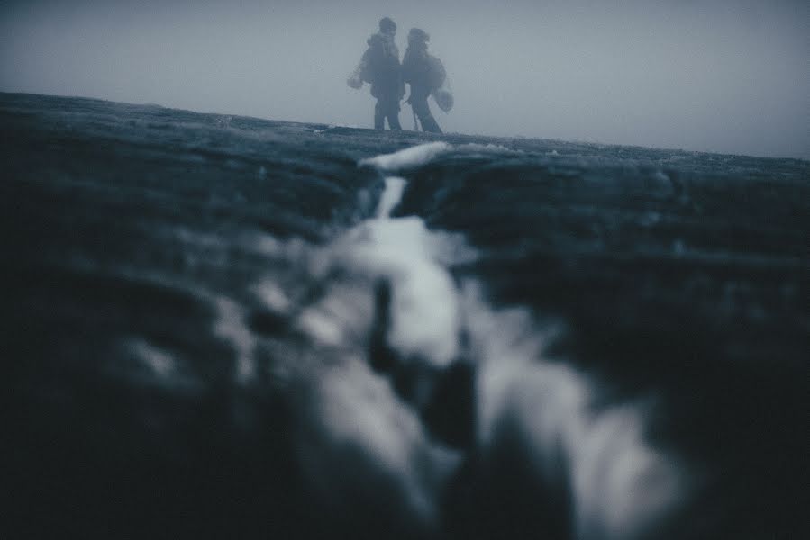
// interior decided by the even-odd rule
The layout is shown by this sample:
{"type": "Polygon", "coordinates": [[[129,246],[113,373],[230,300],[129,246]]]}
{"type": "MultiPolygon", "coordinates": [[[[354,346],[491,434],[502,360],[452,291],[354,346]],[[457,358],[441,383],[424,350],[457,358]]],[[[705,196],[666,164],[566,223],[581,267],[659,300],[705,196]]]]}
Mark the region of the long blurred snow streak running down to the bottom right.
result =
{"type": "Polygon", "coordinates": [[[500,443],[504,420],[515,426],[537,481],[571,493],[577,538],[636,537],[677,510],[686,466],[645,441],[646,403],[593,410],[595,383],[543,359],[547,336],[528,312],[490,311],[472,287],[464,309],[478,354],[478,445],[485,454],[500,443]]]}

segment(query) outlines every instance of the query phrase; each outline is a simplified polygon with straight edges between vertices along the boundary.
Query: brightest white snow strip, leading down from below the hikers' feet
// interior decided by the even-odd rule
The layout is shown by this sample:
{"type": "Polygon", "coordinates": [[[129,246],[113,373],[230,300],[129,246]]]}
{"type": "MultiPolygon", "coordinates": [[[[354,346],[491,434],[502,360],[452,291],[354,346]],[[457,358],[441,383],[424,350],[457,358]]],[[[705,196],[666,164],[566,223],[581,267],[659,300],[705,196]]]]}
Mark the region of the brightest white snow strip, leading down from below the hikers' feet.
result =
{"type": "MultiPolygon", "coordinates": [[[[427,162],[450,147],[438,142],[360,162],[382,168],[427,162]]],[[[386,178],[377,219],[360,223],[334,245],[338,257],[391,285],[388,345],[400,356],[445,367],[459,354],[460,314],[456,286],[442,265],[447,257],[471,257],[460,236],[434,235],[416,217],[390,219],[406,181],[386,178]],[[460,247],[453,248],[458,243],[460,247]],[[441,255],[448,251],[449,255],[441,255]]]]}

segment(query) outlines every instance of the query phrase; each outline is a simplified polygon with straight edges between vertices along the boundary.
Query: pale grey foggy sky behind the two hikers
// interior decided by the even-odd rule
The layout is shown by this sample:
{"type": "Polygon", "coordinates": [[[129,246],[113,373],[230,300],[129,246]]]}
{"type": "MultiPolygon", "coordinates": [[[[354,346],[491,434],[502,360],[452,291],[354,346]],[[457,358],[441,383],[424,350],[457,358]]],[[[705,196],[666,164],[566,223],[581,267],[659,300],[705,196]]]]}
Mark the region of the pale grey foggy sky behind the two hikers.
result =
{"type": "Polygon", "coordinates": [[[384,15],[431,34],[446,131],[810,158],[793,0],[0,0],[0,90],[370,127],[345,81],[384,15]]]}

